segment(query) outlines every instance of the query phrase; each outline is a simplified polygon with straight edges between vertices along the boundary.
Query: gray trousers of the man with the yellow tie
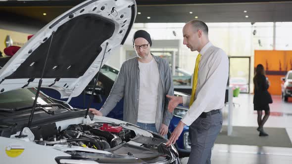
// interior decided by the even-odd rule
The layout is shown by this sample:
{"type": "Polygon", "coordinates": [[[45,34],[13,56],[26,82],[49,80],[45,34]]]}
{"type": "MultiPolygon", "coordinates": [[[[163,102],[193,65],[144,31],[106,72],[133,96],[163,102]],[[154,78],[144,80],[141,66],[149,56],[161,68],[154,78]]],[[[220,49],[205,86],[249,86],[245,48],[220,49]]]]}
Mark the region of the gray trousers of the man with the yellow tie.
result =
{"type": "Polygon", "coordinates": [[[191,154],[188,164],[211,164],[211,149],[222,127],[222,114],[197,118],[189,127],[191,154]]]}

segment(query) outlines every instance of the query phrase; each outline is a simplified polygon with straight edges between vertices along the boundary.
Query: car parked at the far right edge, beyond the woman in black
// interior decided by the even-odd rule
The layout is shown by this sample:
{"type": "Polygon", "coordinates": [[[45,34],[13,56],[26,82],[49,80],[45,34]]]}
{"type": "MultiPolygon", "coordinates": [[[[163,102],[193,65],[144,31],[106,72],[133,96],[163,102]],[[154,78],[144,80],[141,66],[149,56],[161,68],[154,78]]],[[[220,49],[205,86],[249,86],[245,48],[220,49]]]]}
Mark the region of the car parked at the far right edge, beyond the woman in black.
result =
{"type": "Polygon", "coordinates": [[[282,99],[287,102],[292,97],[292,70],[288,71],[285,77],[281,78],[282,99]]]}

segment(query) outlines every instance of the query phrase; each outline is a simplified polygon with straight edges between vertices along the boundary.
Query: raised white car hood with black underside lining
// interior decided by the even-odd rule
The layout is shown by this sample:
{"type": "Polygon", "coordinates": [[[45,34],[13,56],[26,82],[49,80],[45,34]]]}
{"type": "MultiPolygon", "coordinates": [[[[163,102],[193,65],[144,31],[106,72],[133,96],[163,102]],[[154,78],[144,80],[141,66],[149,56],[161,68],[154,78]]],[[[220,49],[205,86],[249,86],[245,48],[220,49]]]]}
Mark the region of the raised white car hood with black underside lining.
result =
{"type": "Polygon", "coordinates": [[[35,34],[0,69],[0,92],[42,87],[61,98],[78,96],[126,40],[136,17],[135,0],[87,0],[35,34]],[[47,54],[49,57],[47,62],[47,54]],[[45,65],[46,63],[46,65],[45,65]]]}

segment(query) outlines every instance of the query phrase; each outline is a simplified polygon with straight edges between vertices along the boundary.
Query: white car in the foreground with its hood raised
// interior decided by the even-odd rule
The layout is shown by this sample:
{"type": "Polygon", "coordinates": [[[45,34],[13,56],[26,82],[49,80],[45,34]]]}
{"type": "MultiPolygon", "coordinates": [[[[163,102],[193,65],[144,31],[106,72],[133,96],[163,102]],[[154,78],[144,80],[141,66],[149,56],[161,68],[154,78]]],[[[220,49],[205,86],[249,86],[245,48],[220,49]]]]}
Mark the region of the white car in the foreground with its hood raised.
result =
{"type": "Polygon", "coordinates": [[[67,104],[111,50],[124,43],[136,11],[135,0],[84,1],[41,29],[10,60],[0,59],[5,63],[0,69],[1,164],[180,163],[163,136],[67,104]],[[50,98],[41,87],[68,101],[50,98]]]}

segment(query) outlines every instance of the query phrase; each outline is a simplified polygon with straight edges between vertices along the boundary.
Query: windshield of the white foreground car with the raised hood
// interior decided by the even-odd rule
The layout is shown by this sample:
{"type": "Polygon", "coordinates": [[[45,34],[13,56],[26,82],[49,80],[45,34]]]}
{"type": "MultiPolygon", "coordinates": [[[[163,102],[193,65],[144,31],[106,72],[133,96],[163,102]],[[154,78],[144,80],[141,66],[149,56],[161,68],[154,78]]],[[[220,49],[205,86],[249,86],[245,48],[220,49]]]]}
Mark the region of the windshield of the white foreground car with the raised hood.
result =
{"type": "MultiPolygon", "coordinates": [[[[36,92],[37,90],[35,88],[23,88],[1,93],[0,108],[15,109],[32,106],[36,92]]],[[[46,95],[40,93],[37,103],[51,104],[53,102],[46,95]]]]}

